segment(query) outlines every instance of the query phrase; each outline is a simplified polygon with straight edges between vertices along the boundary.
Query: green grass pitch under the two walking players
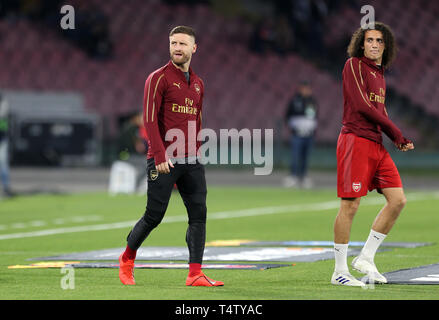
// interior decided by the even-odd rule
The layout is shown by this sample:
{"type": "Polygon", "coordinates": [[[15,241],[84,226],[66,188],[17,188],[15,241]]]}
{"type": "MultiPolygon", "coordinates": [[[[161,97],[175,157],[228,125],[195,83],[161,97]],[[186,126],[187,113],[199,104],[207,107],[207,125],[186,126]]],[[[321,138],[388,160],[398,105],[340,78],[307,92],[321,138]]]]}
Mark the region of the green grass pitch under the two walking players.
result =
{"type": "MultiPolygon", "coordinates": [[[[433,246],[392,249],[377,253],[381,272],[439,262],[438,192],[406,190],[408,203],[386,241],[434,242],[433,246]]],[[[371,193],[362,200],[352,226],[352,241],[365,241],[384,200],[371,193]]],[[[261,241],[332,240],[338,199],[333,190],[303,191],[282,188],[214,187],[208,193],[207,241],[248,239],[261,241]],[[319,206],[319,204],[324,204],[319,206]],[[303,210],[276,214],[219,216],[218,212],[304,205],[303,210]]],[[[28,258],[70,252],[124,247],[130,227],[108,230],[12,234],[136,221],[145,197],[105,193],[37,195],[0,202],[0,299],[151,299],[151,300],[308,300],[308,299],[438,299],[435,285],[376,285],[374,289],[330,284],[333,260],[295,263],[269,270],[207,270],[224,287],[184,285],[187,270],[135,271],[136,286],[123,286],[117,269],[75,269],[75,288],[63,290],[60,269],[8,269],[30,264],[28,258]],[[6,236],[6,238],[5,238],[6,236]],[[1,238],[3,237],[3,238],[1,238]]],[[[178,193],[173,194],[166,217],[186,214],[178,193]]],[[[178,219],[177,219],[178,220],[178,219]]],[[[185,221],[162,223],[143,246],[185,246],[185,221]]],[[[78,230],[78,229],[73,229],[78,230]]],[[[350,263],[353,257],[348,259],[350,263]]],[[[356,276],[360,274],[352,271],[356,276]]]]}

